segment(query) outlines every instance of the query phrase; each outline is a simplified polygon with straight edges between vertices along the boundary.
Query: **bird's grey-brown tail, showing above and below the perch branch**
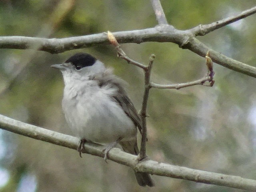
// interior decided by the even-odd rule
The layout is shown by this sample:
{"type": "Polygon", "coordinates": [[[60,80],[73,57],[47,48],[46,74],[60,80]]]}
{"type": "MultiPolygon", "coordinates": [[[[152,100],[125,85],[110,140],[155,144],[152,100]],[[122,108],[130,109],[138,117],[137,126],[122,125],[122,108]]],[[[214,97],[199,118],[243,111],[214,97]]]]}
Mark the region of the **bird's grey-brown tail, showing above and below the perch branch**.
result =
{"type": "MultiPolygon", "coordinates": [[[[121,141],[119,143],[125,152],[133,154],[133,155],[139,154],[137,140],[121,141]]],[[[150,186],[150,187],[154,186],[154,182],[148,173],[134,171],[134,174],[135,174],[136,180],[140,186],[143,186],[143,187],[144,186],[150,186]]]]}

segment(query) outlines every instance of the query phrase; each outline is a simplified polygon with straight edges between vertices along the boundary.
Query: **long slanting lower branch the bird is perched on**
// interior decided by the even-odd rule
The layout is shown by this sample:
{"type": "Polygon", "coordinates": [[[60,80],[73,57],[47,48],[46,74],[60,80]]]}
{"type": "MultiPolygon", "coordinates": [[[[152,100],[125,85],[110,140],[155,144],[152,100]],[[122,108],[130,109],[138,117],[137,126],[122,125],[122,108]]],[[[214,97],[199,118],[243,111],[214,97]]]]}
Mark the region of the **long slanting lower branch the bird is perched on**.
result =
{"type": "MultiPolygon", "coordinates": [[[[74,150],[76,150],[79,143],[79,139],[76,137],[26,124],[3,115],[0,115],[0,127],[4,130],[14,132],[16,134],[42,140],[59,146],[64,146],[74,150]]],[[[102,152],[103,149],[104,147],[100,146],[99,144],[86,143],[83,152],[99,157],[104,157],[104,153],[102,152]]],[[[174,166],[148,159],[144,159],[138,162],[137,156],[122,152],[117,148],[110,150],[108,159],[119,164],[132,167],[138,172],[148,172],[150,174],[159,176],[167,176],[171,178],[190,180],[205,184],[214,184],[256,191],[256,180],[174,166]]]]}

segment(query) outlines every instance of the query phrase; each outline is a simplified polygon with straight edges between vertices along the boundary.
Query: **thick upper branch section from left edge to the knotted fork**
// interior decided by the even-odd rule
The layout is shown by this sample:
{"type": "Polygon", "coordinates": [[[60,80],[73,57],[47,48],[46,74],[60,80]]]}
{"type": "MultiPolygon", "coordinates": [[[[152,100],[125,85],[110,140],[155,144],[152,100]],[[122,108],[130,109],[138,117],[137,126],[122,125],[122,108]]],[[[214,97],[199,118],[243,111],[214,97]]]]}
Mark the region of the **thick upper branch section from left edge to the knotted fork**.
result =
{"type": "MultiPolygon", "coordinates": [[[[186,32],[174,30],[171,26],[155,27],[142,30],[113,32],[119,43],[142,43],[142,42],[183,42],[187,38],[186,32]]],[[[39,45],[39,50],[54,53],[61,53],[68,50],[110,44],[107,34],[92,34],[70,38],[36,38],[24,36],[3,36],[0,37],[0,48],[29,49],[39,45]]]]}

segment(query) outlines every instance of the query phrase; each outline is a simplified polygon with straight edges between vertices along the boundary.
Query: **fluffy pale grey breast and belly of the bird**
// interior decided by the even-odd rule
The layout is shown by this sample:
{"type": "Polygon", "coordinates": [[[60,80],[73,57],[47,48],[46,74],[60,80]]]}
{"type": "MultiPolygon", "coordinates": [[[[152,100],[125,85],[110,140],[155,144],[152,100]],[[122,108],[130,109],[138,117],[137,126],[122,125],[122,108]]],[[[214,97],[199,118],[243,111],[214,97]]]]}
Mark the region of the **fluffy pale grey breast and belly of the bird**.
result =
{"type": "Polygon", "coordinates": [[[95,81],[64,88],[62,108],[66,121],[79,138],[114,142],[136,136],[136,126],[113,96],[115,87],[100,87],[95,81]]]}

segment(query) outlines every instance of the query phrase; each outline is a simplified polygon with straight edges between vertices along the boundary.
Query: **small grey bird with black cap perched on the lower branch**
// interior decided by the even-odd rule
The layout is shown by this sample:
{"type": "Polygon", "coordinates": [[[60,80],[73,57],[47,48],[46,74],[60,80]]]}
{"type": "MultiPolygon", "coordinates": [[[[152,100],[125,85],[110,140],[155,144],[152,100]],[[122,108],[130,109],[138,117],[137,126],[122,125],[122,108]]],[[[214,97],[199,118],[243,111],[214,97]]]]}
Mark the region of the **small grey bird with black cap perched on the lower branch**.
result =
{"type": "MultiPolygon", "coordinates": [[[[137,127],[142,131],[140,116],[124,90],[124,81],[102,62],[86,53],[77,53],[60,69],[64,79],[62,109],[69,127],[84,142],[106,144],[108,151],[119,143],[125,152],[138,155],[137,127]]],[[[154,186],[148,173],[135,172],[140,186],[154,186]]]]}

